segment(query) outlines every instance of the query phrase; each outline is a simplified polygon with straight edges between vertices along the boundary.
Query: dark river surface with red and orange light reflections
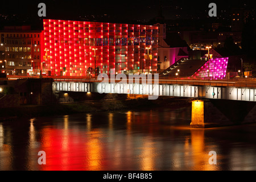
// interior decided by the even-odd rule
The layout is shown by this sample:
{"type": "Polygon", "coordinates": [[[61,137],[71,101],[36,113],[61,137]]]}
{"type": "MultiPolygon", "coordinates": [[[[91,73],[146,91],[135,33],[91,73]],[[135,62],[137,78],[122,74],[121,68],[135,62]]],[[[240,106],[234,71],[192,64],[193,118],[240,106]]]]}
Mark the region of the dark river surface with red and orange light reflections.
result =
{"type": "Polygon", "coordinates": [[[182,107],[0,122],[0,170],[256,170],[256,124],[191,129],[190,119],[182,107]]]}

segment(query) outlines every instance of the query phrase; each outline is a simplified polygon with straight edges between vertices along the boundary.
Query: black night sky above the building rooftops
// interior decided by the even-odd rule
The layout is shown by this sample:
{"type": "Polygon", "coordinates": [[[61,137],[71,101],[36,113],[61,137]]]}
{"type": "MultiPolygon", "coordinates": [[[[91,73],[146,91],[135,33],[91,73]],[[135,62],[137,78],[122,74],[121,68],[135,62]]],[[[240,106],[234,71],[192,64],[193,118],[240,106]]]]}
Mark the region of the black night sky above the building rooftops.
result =
{"type": "MultiPolygon", "coordinates": [[[[184,1],[184,0],[148,0],[148,1],[3,1],[0,6],[1,24],[39,22],[38,4],[46,3],[47,19],[95,20],[104,22],[148,22],[159,14],[165,19],[206,18],[208,5],[217,5],[217,16],[231,7],[255,8],[254,0],[243,1],[184,1]],[[7,17],[6,17],[7,16],[7,17]]],[[[224,14],[225,16],[225,14],[224,14]]],[[[42,18],[41,18],[42,20],[42,18]]]]}

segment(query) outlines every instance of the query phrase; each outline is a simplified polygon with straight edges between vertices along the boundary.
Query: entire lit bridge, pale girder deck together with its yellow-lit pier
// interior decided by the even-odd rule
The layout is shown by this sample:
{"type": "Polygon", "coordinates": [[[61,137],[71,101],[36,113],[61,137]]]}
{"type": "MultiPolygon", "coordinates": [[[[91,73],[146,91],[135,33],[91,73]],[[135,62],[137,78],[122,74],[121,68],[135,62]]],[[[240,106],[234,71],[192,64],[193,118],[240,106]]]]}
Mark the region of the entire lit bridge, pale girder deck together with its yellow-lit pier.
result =
{"type": "MultiPolygon", "coordinates": [[[[192,100],[191,127],[232,125],[256,122],[256,80],[203,80],[191,77],[148,77],[122,80],[111,78],[99,81],[88,77],[51,77],[54,93],[114,93],[147,95],[156,100],[163,97],[195,98],[192,100]],[[121,81],[120,81],[121,80],[121,81]]],[[[9,80],[17,79],[9,77],[9,80]]]]}

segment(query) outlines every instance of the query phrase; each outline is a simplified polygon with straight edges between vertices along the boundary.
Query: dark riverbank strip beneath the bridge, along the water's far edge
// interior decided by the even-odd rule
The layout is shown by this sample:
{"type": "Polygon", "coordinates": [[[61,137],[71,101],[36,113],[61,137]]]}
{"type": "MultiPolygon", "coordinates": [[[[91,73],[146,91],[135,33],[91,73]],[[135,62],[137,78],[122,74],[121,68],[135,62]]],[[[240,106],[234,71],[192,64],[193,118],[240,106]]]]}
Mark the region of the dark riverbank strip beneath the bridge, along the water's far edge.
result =
{"type": "Polygon", "coordinates": [[[74,102],[57,105],[23,105],[18,107],[6,107],[0,110],[0,122],[19,118],[46,117],[51,115],[68,115],[76,113],[92,113],[100,111],[114,111],[127,109],[154,109],[156,107],[187,106],[189,99],[159,98],[148,100],[147,98],[127,100],[98,100],[88,102],[74,102]]]}

